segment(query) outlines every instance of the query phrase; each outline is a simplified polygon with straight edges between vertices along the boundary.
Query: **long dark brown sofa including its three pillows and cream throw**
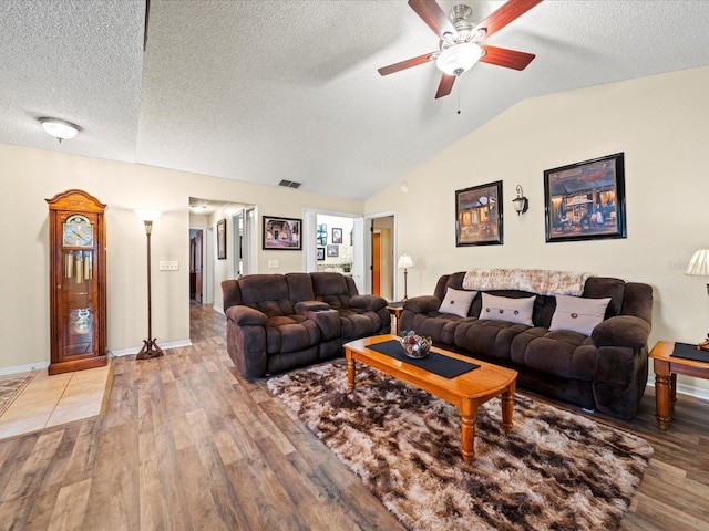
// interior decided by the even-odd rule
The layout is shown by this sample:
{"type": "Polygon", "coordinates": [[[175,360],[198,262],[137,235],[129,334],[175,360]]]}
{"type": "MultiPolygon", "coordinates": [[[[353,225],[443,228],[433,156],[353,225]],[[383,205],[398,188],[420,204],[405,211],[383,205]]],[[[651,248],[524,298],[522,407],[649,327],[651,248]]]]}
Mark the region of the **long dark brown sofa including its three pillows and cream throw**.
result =
{"type": "Polygon", "coordinates": [[[576,279],[575,296],[569,296],[555,293],[558,284],[535,289],[544,282],[527,282],[545,273],[565,274],[444,274],[433,295],[404,303],[401,327],[430,335],[436,346],[512,367],[521,387],[586,409],[634,417],[648,377],[651,287],[584,275],[576,279]],[[472,280],[466,282],[466,277],[472,280]],[[599,309],[595,321],[585,323],[587,305],[599,309]]]}

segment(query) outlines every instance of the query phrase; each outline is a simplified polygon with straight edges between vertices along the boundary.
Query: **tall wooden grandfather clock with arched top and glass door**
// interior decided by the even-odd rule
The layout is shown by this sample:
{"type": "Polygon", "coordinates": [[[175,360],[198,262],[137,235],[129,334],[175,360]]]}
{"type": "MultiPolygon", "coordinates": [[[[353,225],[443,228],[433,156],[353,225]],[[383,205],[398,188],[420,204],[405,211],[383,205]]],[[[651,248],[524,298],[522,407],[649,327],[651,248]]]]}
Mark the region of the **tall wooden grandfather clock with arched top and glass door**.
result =
{"type": "Polygon", "coordinates": [[[106,364],[105,205],[82,190],[49,204],[49,374],[106,364]]]}

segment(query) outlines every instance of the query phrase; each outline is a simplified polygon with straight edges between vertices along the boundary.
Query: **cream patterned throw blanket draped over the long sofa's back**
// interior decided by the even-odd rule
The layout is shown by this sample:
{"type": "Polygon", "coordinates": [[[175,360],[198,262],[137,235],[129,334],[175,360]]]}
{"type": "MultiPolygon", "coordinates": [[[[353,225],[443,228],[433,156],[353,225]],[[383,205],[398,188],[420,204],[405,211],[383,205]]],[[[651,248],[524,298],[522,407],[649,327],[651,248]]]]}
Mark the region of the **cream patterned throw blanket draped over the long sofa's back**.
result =
{"type": "Polygon", "coordinates": [[[465,290],[520,290],[540,295],[576,295],[584,292],[590,273],[546,269],[472,269],[465,273],[465,290]]]}

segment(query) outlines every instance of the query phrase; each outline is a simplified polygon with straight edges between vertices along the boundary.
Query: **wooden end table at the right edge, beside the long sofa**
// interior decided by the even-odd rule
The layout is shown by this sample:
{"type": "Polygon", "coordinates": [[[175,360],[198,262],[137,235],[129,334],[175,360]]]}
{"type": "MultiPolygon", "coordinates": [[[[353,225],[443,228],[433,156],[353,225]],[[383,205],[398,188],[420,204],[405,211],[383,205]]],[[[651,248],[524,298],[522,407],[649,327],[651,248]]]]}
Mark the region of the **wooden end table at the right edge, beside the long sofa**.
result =
{"type": "Polygon", "coordinates": [[[655,371],[655,418],[660,429],[669,428],[677,402],[677,375],[709,379],[709,363],[672,357],[675,342],[659,341],[650,351],[655,371]]]}

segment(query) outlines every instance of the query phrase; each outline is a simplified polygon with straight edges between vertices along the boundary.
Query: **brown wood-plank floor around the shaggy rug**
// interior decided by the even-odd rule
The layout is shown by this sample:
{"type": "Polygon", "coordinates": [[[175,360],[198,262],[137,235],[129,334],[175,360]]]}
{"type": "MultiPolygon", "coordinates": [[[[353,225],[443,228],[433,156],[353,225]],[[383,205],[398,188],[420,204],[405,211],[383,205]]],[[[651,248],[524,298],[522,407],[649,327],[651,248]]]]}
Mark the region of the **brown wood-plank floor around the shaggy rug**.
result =
{"type": "MultiPolygon", "coordinates": [[[[105,416],[0,441],[3,530],[402,529],[267,391],[236,374],[224,316],[192,308],[193,346],[114,361],[105,416]]],[[[709,530],[709,404],[661,433],[648,388],[629,429],[655,448],[623,529],[709,530]]]]}

